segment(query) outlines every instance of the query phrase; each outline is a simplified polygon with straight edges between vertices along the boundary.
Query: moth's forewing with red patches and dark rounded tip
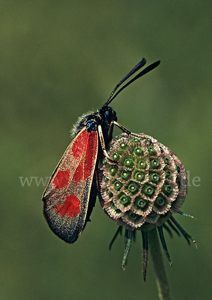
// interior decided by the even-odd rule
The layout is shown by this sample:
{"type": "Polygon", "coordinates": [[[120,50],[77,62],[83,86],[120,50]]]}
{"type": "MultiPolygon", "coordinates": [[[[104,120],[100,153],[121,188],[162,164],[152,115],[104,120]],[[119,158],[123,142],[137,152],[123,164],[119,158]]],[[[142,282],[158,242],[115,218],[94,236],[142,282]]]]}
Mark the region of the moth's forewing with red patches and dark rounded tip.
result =
{"type": "Polygon", "coordinates": [[[97,150],[97,131],[84,127],[66,149],[43,193],[46,220],[66,242],[74,242],[82,232],[97,150]]]}

